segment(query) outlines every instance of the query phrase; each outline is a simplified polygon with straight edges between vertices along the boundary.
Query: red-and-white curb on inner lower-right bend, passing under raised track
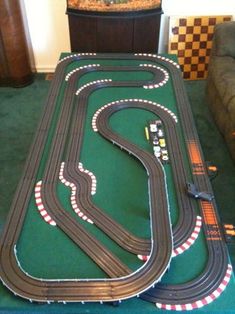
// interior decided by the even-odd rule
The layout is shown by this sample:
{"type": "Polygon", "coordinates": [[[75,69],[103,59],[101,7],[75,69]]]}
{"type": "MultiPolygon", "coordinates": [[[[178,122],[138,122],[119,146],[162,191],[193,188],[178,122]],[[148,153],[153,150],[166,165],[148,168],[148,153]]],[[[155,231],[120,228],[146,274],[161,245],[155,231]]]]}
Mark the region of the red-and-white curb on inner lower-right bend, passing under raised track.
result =
{"type": "MultiPolygon", "coordinates": [[[[201,227],[202,227],[202,218],[200,216],[197,216],[196,225],[190,238],[188,238],[188,240],[182,245],[180,245],[178,248],[173,250],[172,257],[182,254],[184,251],[188,250],[194,244],[194,242],[196,241],[200,233],[201,227]]],[[[148,255],[137,255],[137,256],[143,262],[146,262],[149,259],[148,255]]]]}

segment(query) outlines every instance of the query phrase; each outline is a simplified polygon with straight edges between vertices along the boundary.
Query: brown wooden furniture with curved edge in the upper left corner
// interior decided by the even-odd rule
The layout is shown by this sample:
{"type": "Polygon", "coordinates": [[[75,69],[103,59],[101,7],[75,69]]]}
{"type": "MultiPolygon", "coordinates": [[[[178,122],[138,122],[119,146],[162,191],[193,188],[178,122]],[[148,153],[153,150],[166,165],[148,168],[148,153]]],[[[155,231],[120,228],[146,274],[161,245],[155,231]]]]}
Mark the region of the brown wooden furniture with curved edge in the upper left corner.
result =
{"type": "Polygon", "coordinates": [[[19,0],[0,0],[0,86],[32,82],[19,0]]]}

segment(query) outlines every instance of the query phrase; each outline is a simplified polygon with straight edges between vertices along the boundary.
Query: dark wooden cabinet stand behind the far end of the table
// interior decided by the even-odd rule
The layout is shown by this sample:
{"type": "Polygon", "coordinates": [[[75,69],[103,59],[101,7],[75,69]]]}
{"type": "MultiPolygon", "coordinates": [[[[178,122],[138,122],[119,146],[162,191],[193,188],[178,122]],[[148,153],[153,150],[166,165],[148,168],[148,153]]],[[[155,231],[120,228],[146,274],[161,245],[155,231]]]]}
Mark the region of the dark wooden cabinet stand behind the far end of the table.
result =
{"type": "Polygon", "coordinates": [[[72,52],[158,52],[161,9],[67,14],[72,52]]]}

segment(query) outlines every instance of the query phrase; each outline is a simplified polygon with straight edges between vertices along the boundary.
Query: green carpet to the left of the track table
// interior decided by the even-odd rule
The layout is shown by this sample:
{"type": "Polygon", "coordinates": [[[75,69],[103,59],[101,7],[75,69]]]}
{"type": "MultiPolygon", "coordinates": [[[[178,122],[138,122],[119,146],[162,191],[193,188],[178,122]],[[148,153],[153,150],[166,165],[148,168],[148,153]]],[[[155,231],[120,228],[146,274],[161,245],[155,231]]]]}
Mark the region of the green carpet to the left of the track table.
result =
{"type": "Polygon", "coordinates": [[[0,231],[23,171],[30,144],[49,88],[36,75],[24,88],[0,88],[0,231]]]}

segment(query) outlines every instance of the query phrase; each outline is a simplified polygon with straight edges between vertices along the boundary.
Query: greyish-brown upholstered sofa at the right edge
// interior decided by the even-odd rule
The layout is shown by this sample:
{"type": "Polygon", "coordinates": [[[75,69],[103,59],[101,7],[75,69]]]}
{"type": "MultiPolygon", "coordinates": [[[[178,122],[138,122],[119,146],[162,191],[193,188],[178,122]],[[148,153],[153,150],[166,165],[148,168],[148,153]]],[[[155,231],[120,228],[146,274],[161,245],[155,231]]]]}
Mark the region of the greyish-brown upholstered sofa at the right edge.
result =
{"type": "Polygon", "coordinates": [[[207,96],[213,117],[235,161],[235,21],[215,27],[207,96]]]}

